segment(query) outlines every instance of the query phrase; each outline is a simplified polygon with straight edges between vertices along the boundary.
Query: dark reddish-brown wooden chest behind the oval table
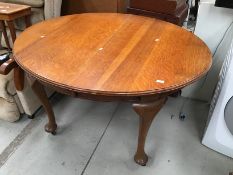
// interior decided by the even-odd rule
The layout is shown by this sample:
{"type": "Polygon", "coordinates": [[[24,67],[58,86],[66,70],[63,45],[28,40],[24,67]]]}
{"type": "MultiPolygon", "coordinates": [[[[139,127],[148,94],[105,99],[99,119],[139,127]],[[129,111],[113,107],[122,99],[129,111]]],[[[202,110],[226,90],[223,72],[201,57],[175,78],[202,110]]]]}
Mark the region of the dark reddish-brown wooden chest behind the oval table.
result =
{"type": "Polygon", "coordinates": [[[188,15],[188,5],[186,0],[129,0],[127,12],[182,26],[188,15]]]}

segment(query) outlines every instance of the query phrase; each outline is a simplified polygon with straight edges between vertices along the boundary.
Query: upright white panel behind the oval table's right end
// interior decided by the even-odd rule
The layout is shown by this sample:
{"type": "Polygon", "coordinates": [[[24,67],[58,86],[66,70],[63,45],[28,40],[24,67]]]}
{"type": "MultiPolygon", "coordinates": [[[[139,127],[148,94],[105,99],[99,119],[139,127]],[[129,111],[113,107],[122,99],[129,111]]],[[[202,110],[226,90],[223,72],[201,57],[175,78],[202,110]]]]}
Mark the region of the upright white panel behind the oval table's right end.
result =
{"type": "Polygon", "coordinates": [[[195,34],[210,48],[212,53],[221,41],[225,31],[233,22],[233,9],[215,7],[214,0],[203,0],[198,11],[195,34]]]}

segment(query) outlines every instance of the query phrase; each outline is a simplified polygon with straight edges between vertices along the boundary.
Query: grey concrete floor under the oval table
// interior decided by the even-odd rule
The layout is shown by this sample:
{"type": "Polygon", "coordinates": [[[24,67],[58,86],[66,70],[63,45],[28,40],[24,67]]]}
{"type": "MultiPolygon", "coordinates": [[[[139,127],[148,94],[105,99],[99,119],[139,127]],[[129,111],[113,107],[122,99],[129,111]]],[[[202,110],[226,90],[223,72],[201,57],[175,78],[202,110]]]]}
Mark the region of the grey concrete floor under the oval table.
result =
{"type": "Polygon", "coordinates": [[[153,122],[146,167],[133,161],[138,117],[127,103],[99,103],[56,95],[56,136],[44,132],[41,110],[34,120],[0,122],[0,175],[228,175],[233,160],[200,140],[208,105],[170,98],[153,122]],[[185,102],[185,103],[184,103],[185,102]],[[178,118],[184,104],[184,121],[178,118]],[[171,115],[174,115],[171,118],[171,115]]]}

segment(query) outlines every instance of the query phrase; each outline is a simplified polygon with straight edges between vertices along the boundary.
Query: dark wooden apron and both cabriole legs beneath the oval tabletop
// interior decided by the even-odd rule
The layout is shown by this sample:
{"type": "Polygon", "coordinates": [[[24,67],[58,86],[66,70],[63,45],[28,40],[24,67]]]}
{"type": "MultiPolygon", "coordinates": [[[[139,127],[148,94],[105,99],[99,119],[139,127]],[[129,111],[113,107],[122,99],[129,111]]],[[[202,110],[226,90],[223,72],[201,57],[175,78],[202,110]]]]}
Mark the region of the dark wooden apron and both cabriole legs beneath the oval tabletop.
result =
{"type": "Polygon", "coordinates": [[[145,153],[145,141],[147,137],[147,133],[151,126],[153,119],[156,114],[160,111],[163,105],[167,101],[167,96],[173,94],[177,90],[169,91],[161,94],[153,94],[153,95],[144,95],[144,96],[123,96],[122,94],[117,95],[98,95],[98,94],[90,94],[90,93],[82,93],[82,92],[74,92],[68,89],[62,89],[56,86],[53,86],[49,83],[41,82],[37,80],[35,77],[28,75],[29,84],[32,87],[33,91],[41,101],[47,115],[48,115],[48,123],[45,125],[45,131],[51,133],[53,135],[56,134],[57,123],[55,119],[55,115],[52,109],[52,106],[48,100],[46,92],[44,90],[44,86],[49,86],[53,88],[57,92],[62,94],[70,95],[76,98],[94,100],[94,101],[125,101],[131,102],[132,108],[139,115],[139,135],[138,135],[138,146],[137,151],[134,156],[134,160],[137,164],[145,166],[148,162],[148,156],[145,153]]]}

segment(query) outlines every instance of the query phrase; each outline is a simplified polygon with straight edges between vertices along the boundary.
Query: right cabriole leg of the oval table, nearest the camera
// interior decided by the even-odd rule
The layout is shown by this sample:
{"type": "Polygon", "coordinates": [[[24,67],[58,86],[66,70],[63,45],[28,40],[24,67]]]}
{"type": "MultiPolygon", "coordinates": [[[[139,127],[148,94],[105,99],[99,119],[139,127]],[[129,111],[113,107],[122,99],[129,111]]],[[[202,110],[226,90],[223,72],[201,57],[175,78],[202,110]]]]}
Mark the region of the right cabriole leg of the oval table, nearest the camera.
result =
{"type": "Polygon", "coordinates": [[[150,125],[155,118],[155,115],[163,107],[167,97],[158,99],[155,102],[135,103],[133,109],[140,117],[138,148],[134,156],[134,160],[142,166],[145,166],[148,161],[148,156],[145,153],[145,141],[150,125]]]}

